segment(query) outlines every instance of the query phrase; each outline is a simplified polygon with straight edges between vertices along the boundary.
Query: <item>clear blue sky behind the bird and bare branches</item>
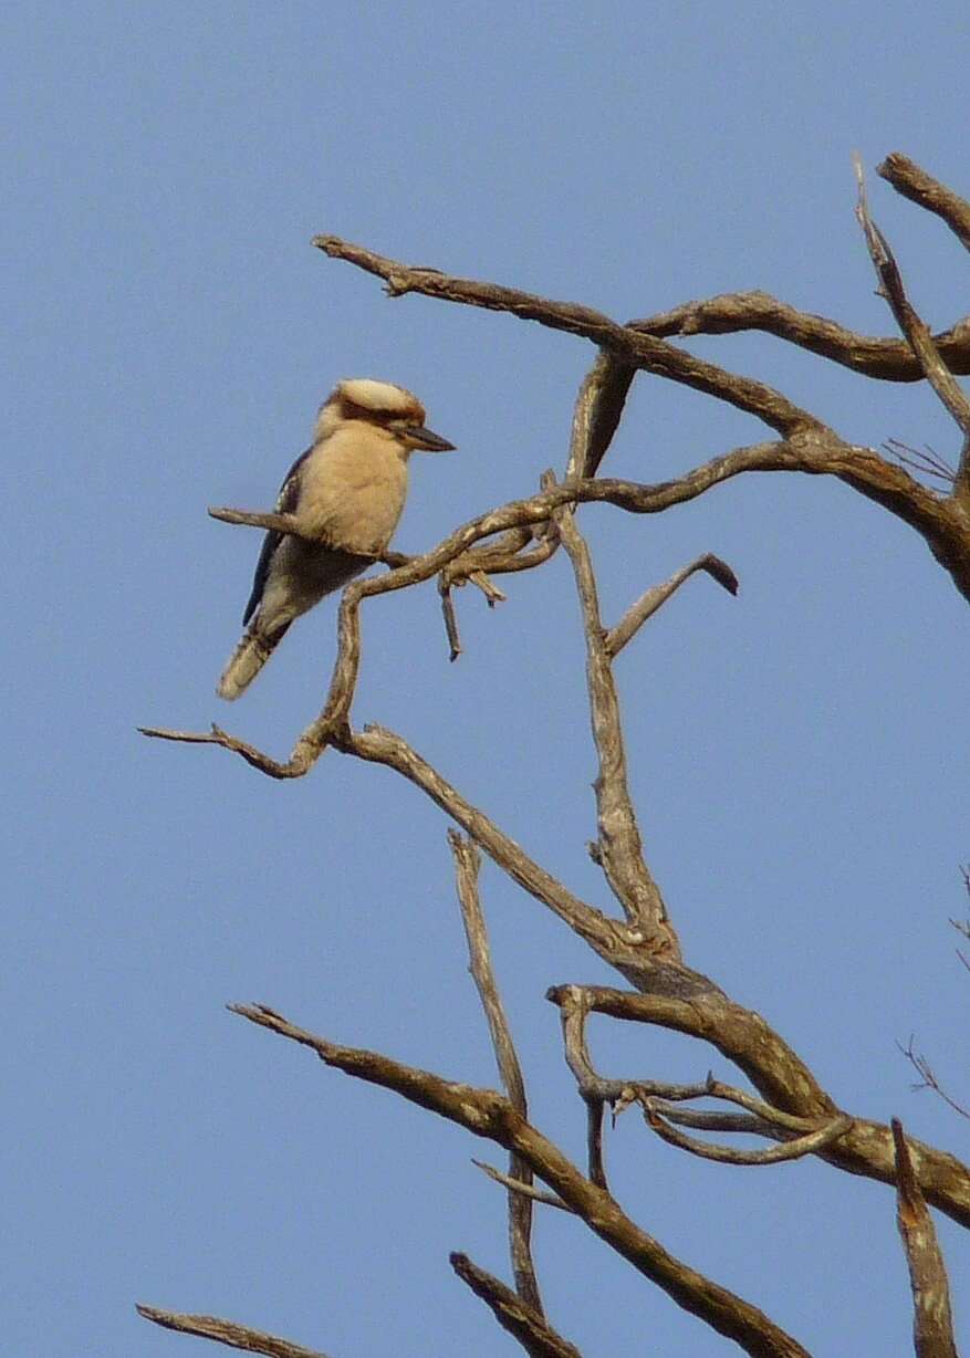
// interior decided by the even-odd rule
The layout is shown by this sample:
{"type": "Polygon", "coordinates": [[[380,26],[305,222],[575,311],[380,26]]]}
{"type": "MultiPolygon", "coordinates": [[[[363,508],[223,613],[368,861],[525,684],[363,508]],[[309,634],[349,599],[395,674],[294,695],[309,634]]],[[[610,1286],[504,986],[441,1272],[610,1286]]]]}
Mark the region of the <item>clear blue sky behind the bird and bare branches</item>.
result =
{"type": "MultiPolygon", "coordinates": [[[[213,718],[277,754],[318,710],[333,603],[232,710],[264,507],[342,376],[416,390],[461,451],[414,459],[397,536],[420,550],[561,467],[592,350],[425,299],[308,244],[398,258],[628,318],[765,288],[891,333],[852,216],[850,152],[901,149],[970,193],[963,5],[18,4],[4,7],[8,342],[4,580],[8,891],[0,1145],[10,1353],[175,1354],[133,1302],[204,1310],[340,1355],[518,1351],[452,1277],[507,1275],[482,1145],[227,1014],[259,999],[336,1039],[493,1084],[442,815],[329,754],[292,785],[136,724],[213,718]]],[[[872,175],[933,326],[967,259],[872,175]]],[[[925,390],[865,383],[759,337],[697,353],[783,387],[844,435],[954,456],[925,390]]],[[[653,481],[759,437],[641,376],[607,462],[653,481]]],[[[687,960],[759,1009],[849,1111],[966,1154],[910,1093],[917,1033],[966,1077],[966,603],[922,542],[823,481],[736,481],[662,517],[581,516],[607,618],[700,551],[618,663],[632,778],[687,960]]],[[[433,587],[365,612],[357,721],[401,731],[599,904],[594,775],[567,562],[493,614],[433,587]]],[[[552,983],[611,974],[490,866],[499,975],[535,1122],[581,1157],[552,983]]],[[[594,1031],[611,1074],[700,1078],[716,1052],[594,1031]]],[[[495,1157],[493,1157],[495,1158],[495,1157]]],[[[685,1260],[819,1354],[902,1353],[893,1195],[816,1162],[739,1171],[609,1138],[614,1191],[685,1260]]],[[[970,1251],[940,1224],[966,1342],[970,1251]]],[[[725,1342],[545,1214],[550,1320],[592,1358],[725,1342]]],[[[200,1350],[201,1351],[201,1350],[200,1350]]]]}

